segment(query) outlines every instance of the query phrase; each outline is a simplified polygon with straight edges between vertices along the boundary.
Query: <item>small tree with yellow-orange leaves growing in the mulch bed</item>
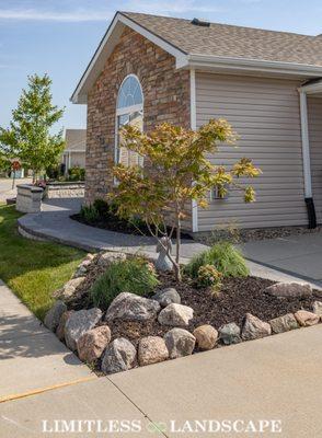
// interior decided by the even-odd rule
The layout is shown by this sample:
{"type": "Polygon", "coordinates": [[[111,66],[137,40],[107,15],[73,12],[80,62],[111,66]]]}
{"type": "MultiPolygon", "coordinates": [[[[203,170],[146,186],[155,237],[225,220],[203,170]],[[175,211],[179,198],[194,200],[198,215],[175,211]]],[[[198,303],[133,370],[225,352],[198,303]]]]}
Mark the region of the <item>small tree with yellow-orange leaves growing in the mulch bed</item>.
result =
{"type": "MultiPolygon", "coordinates": [[[[219,196],[231,188],[243,192],[244,201],[255,200],[252,186],[243,186],[241,176],[254,177],[261,171],[248,158],[239,160],[230,170],[212,165],[207,154],[218,151],[218,143],[234,143],[235,135],[223,119],[211,119],[198,130],[187,130],[164,123],[145,134],[133,126],[122,128],[122,146],[145,158],[143,166],[114,166],[117,184],[111,195],[124,218],[138,215],[150,233],[163,245],[176,230],[175,257],[168,251],[175,277],[181,280],[180,247],[182,221],[193,199],[202,207],[208,205],[210,189],[219,196]],[[169,227],[170,224],[170,227],[169,227]]],[[[164,246],[163,246],[164,247],[164,246]]],[[[164,247],[165,250],[166,247],[164,247]]]]}

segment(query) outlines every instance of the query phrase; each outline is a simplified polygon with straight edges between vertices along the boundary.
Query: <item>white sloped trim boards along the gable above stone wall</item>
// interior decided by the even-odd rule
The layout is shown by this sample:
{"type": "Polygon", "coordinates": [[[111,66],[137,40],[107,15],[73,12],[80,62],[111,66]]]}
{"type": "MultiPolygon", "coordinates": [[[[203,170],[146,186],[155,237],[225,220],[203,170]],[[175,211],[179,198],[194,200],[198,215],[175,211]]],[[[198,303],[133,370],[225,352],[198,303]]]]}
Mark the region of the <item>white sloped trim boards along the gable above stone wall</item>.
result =
{"type": "Polygon", "coordinates": [[[70,97],[70,101],[72,103],[87,103],[88,91],[103,70],[104,64],[106,62],[106,59],[110,57],[114,47],[116,46],[125,26],[133,28],[135,32],[142,35],[151,43],[173,55],[176,60],[176,68],[182,68],[187,65],[187,55],[184,51],[172,46],[147,28],[140,26],[133,20],[117,12],[93,58],[91,59],[85,72],[83,73],[79,84],[77,85],[72,96],[70,97]]]}

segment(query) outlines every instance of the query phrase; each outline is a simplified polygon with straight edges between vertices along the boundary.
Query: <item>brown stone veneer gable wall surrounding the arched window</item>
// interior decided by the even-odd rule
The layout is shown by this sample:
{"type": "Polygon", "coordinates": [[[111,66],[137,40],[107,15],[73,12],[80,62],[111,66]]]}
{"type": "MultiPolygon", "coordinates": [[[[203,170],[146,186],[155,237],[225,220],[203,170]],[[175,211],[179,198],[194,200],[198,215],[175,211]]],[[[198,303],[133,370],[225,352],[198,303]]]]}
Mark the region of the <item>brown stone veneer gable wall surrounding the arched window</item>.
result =
{"type": "Polygon", "coordinates": [[[105,197],[113,185],[116,99],[129,73],[143,90],[146,131],[162,122],[191,126],[189,72],[175,70],[173,56],[126,27],[88,96],[87,204],[105,197]]]}

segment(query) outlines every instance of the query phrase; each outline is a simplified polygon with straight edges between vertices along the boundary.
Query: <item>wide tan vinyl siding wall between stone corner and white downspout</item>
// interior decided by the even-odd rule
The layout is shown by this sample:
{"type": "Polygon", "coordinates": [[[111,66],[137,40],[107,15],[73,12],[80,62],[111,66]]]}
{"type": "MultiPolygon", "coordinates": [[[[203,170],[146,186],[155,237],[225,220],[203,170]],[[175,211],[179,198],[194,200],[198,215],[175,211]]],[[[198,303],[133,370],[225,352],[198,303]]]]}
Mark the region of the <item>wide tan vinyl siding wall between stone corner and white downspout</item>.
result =
{"type": "Polygon", "coordinates": [[[212,162],[229,166],[250,157],[263,171],[252,182],[256,203],[244,204],[235,191],[228,199],[211,200],[207,209],[198,209],[199,231],[229,223],[307,223],[297,87],[299,82],[283,79],[196,73],[197,126],[222,117],[240,136],[238,149],[221,147],[212,162]]]}

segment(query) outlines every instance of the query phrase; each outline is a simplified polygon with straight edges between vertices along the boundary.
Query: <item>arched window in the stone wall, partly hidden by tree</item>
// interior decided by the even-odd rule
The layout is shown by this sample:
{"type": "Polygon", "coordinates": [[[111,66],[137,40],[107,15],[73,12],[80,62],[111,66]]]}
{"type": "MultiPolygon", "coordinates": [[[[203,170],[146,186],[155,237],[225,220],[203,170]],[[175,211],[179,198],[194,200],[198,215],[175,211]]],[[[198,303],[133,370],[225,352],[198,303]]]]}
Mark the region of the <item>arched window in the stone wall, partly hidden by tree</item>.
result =
{"type": "Polygon", "coordinates": [[[135,74],[127,76],[118,90],[116,103],[115,161],[125,165],[142,165],[142,157],[122,147],[119,128],[125,125],[143,129],[143,93],[135,74]]]}

